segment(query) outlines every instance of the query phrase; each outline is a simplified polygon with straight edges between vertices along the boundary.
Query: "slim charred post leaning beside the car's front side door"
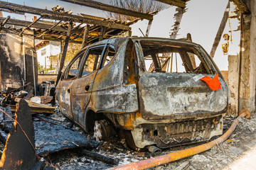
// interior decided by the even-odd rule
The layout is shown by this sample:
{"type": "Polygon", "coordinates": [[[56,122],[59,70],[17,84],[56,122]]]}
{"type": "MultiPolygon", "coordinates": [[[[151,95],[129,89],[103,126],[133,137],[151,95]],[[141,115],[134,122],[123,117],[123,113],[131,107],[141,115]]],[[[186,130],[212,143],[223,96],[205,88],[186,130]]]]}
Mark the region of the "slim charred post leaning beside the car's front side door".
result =
{"type": "Polygon", "coordinates": [[[72,22],[70,22],[70,24],[68,25],[68,33],[66,35],[66,38],[65,38],[65,42],[64,42],[64,46],[63,46],[63,53],[62,53],[62,56],[61,56],[61,60],[60,60],[60,69],[58,71],[58,77],[56,79],[56,84],[55,86],[58,85],[58,81],[60,80],[60,77],[61,77],[61,74],[62,74],[62,69],[63,69],[63,66],[64,66],[64,62],[65,62],[65,57],[66,57],[66,54],[67,54],[67,51],[68,51],[68,42],[70,40],[70,32],[71,32],[71,29],[72,29],[72,22]]]}

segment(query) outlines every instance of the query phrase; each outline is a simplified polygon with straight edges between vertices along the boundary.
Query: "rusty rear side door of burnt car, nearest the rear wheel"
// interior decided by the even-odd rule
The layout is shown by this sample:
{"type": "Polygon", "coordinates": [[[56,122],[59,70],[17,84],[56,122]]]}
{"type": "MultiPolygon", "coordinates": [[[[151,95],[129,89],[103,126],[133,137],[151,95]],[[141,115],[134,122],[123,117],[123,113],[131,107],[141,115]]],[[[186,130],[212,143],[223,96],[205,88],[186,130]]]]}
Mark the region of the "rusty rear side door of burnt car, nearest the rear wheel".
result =
{"type": "Polygon", "coordinates": [[[85,108],[90,101],[97,68],[105,48],[106,45],[96,45],[88,48],[78,72],[78,79],[75,79],[72,84],[72,112],[75,122],[82,127],[85,127],[85,108]]]}

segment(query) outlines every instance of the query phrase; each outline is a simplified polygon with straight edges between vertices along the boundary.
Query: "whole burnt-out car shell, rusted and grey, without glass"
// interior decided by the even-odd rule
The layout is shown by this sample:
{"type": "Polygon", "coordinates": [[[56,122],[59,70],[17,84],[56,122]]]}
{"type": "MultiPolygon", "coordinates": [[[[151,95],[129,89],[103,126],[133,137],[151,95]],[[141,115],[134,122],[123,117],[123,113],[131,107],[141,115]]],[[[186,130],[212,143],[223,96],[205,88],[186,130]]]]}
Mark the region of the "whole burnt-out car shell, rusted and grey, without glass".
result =
{"type": "Polygon", "coordinates": [[[123,130],[130,146],[166,148],[222,134],[229,89],[201,45],[112,38],[78,52],[56,97],[60,111],[86,132],[96,120],[108,120],[123,130]],[[221,89],[212,91],[195,79],[200,74],[219,74],[221,89]]]}

